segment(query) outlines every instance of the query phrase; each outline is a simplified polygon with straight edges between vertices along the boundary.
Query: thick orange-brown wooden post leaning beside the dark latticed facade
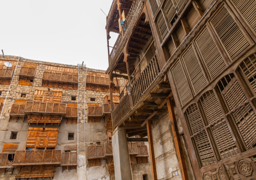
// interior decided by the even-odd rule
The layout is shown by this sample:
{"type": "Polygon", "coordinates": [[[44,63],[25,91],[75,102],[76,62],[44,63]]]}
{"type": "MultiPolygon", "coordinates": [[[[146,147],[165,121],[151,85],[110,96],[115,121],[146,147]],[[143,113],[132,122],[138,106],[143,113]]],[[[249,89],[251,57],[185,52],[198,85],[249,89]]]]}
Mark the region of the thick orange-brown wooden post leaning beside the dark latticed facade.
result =
{"type": "Polygon", "coordinates": [[[180,142],[180,138],[179,138],[177,121],[176,121],[176,117],[175,117],[175,113],[174,113],[174,109],[173,109],[173,104],[172,104],[172,101],[170,98],[167,100],[167,106],[168,106],[168,112],[169,112],[170,121],[171,121],[171,129],[172,129],[172,134],[173,134],[173,138],[174,138],[177,158],[178,158],[178,162],[179,162],[181,178],[182,178],[182,180],[188,180],[186,163],[185,163],[185,158],[184,158],[184,154],[182,151],[182,146],[181,146],[181,142],[180,142]]]}

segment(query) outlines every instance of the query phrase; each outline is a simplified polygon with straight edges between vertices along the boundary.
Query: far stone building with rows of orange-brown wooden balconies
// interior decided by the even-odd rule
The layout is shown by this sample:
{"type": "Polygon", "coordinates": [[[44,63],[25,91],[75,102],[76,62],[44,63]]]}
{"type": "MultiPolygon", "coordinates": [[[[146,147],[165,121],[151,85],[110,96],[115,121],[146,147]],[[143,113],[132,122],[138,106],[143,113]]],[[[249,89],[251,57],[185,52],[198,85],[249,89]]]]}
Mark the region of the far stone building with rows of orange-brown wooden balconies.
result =
{"type": "MultiPolygon", "coordinates": [[[[109,91],[105,71],[1,55],[0,179],[114,179],[109,91]]],[[[127,141],[134,177],[151,178],[147,139],[127,141]]]]}

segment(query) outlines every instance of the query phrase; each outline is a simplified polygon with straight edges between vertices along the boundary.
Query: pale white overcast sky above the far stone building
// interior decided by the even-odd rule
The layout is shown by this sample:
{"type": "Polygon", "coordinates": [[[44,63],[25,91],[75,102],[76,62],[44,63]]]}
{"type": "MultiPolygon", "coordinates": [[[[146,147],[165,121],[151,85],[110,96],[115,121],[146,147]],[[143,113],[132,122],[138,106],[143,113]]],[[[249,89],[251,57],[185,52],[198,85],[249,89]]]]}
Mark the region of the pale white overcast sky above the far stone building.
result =
{"type": "MultiPolygon", "coordinates": [[[[106,70],[113,0],[1,0],[0,54],[106,70]]],[[[110,34],[113,46],[117,34],[110,34]]],[[[111,51],[111,49],[110,49],[111,51]]]]}

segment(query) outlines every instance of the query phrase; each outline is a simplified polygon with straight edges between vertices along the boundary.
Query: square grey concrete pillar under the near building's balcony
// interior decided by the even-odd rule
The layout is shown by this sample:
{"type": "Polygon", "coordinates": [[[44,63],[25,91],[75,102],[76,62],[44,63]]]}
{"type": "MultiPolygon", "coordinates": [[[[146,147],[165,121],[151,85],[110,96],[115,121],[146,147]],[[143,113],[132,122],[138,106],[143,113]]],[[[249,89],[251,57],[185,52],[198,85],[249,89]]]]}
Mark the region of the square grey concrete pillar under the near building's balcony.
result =
{"type": "Polygon", "coordinates": [[[132,168],[125,129],[116,130],[112,136],[115,179],[132,180],[132,168]]]}

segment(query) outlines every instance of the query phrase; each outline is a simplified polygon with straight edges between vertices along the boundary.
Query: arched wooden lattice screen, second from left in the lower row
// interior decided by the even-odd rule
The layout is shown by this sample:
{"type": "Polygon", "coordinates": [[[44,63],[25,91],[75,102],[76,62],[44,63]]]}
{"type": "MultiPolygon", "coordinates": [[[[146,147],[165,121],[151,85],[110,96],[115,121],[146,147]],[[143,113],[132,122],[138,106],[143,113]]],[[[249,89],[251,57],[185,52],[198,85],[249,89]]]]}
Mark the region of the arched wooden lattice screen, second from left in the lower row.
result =
{"type": "Polygon", "coordinates": [[[221,108],[213,91],[206,92],[200,102],[206,115],[208,124],[211,124],[211,131],[218,146],[222,159],[238,153],[232,134],[229,131],[221,108]]]}

